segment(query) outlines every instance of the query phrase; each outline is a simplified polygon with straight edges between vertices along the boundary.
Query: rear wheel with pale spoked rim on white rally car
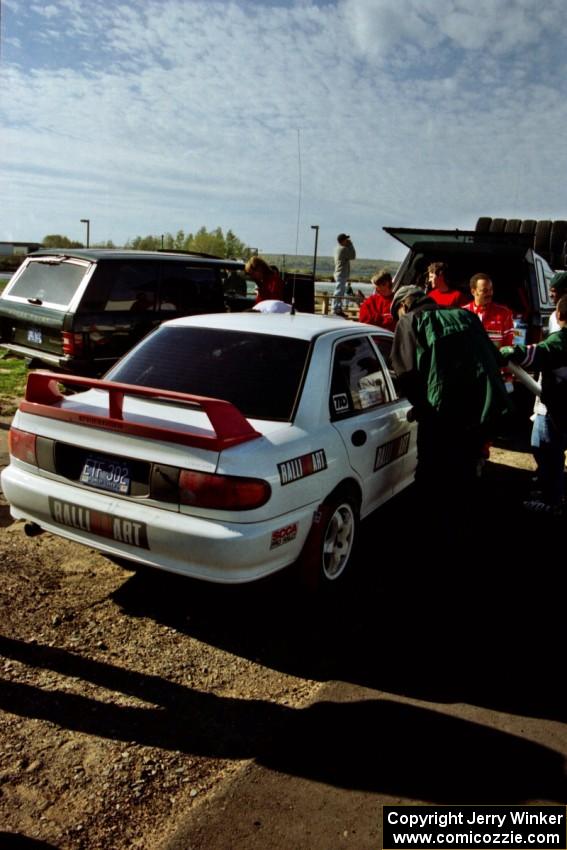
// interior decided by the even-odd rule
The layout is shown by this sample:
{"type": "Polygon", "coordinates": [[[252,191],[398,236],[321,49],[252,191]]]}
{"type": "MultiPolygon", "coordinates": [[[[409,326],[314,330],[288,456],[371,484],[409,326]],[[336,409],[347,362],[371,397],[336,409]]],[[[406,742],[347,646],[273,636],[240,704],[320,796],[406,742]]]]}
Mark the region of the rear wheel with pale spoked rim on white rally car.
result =
{"type": "Polygon", "coordinates": [[[332,593],[352,575],[360,529],[360,507],[348,489],[332,493],[320,506],[296,563],[309,593],[332,593]]]}

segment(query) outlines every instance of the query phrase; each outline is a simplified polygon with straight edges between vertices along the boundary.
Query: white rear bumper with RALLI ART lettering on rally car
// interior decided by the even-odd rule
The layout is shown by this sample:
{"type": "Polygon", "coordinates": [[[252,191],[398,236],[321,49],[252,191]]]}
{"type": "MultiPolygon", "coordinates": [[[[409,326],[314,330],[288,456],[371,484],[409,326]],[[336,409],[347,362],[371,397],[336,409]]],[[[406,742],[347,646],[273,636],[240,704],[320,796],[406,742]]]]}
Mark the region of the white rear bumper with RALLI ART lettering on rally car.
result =
{"type": "Polygon", "coordinates": [[[263,522],[218,522],[46,481],[14,463],[2,472],[2,489],[15,519],[109,555],[223,584],[254,581],[292,564],[317,507],[263,522]]]}

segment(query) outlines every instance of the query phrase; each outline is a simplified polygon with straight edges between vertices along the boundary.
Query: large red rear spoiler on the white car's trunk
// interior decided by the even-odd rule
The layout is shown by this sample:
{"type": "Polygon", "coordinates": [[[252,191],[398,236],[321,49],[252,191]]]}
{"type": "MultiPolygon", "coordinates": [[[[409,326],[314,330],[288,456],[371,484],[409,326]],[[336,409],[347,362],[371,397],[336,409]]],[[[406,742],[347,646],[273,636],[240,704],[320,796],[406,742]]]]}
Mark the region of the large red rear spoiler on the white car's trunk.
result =
{"type": "Polygon", "coordinates": [[[261,436],[237,407],[223,399],[189,395],[172,390],[158,390],[153,387],[138,387],[133,384],[119,384],[114,381],[86,378],[79,375],[60,375],[56,372],[30,372],[24,401],[20,403],[19,409],[23,413],[32,413],[34,416],[76,422],[90,428],[101,428],[120,434],[133,434],[137,437],[164,440],[169,443],[180,443],[183,446],[194,446],[217,452],[231,446],[237,446],[240,443],[246,443],[249,440],[255,440],[261,436]],[[81,389],[104,390],[108,393],[108,415],[97,416],[60,406],[60,402],[67,397],[59,390],[58,384],[63,384],[66,387],[80,387],[81,389]],[[209,418],[215,432],[214,436],[191,434],[187,431],[160,428],[124,419],[122,408],[126,395],[174,401],[178,404],[198,407],[209,418]]]}

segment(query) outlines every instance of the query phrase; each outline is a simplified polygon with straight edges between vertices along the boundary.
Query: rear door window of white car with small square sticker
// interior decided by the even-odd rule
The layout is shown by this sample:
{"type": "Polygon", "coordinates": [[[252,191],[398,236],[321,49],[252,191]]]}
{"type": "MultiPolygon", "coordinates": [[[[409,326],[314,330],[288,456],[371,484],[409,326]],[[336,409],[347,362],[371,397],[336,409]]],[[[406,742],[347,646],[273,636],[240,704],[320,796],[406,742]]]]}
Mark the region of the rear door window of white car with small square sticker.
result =
{"type": "Polygon", "coordinates": [[[387,401],[386,377],[368,337],[339,342],[333,357],[331,418],[351,416],[387,401]]]}

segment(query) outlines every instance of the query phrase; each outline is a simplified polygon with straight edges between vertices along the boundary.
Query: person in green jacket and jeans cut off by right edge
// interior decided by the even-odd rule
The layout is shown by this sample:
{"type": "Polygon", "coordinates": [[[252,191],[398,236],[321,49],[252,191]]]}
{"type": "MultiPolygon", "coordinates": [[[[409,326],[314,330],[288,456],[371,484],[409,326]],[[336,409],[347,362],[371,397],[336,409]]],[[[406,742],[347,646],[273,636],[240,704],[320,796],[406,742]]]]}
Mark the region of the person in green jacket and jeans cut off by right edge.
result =
{"type": "Polygon", "coordinates": [[[500,354],[525,369],[541,372],[541,400],[546,412],[536,412],[531,444],[534,454],[537,452],[542,498],[524,502],[524,508],[561,517],[567,449],[567,295],[558,300],[555,316],[559,330],[543,342],[507,346],[500,354]]]}

